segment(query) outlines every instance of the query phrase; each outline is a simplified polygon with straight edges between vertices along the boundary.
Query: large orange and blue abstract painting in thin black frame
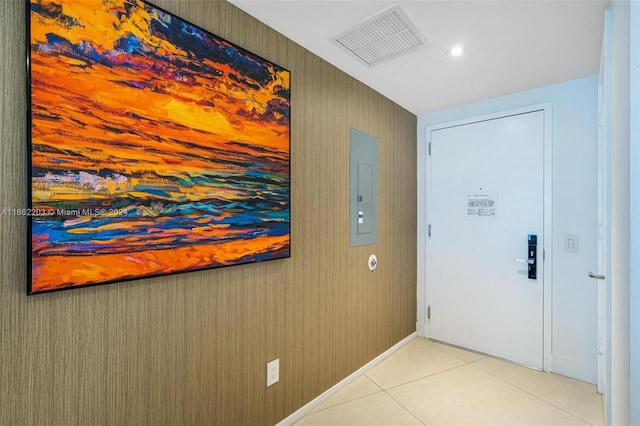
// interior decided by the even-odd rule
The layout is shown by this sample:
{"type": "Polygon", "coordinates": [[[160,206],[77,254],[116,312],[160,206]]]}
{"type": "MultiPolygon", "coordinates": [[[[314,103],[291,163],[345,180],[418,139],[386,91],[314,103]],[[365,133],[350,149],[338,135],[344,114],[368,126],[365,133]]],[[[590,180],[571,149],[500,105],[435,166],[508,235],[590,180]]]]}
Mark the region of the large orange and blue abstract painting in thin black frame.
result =
{"type": "Polygon", "coordinates": [[[141,0],[27,13],[29,294],[289,257],[289,71],[141,0]]]}

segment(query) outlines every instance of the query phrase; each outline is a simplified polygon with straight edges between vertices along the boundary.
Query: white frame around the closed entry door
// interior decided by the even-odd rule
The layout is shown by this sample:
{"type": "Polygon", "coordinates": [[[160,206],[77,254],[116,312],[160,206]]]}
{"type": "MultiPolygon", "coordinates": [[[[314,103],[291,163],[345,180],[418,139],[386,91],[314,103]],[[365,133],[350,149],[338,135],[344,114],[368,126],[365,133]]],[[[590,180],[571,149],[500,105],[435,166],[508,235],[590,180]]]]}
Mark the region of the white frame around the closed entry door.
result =
{"type": "MultiPolygon", "coordinates": [[[[540,262],[543,268],[543,369],[544,371],[552,371],[552,352],[551,352],[551,333],[552,333],[552,271],[553,271],[553,226],[552,226],[552,200],[553,200],[553,192],[552,192],[552,165],[553,165],[553,105],[551,102],[545,102],[541,104],[530,105],[522,108],[509,109],[505,111],[500,111],[491,114],[483,114],[480,116],[469,117],[461,120],[455,120],[450,122],[445,122],[441,124],[427,126],[425,128],[425,137],[426,137],[426,158],[424,158],[425,164],[425,176],[419,176],[419,179],[424,179],[424,185],[418,185],[418,187],[422,187],[425,189],[425,207],[422,208],[421,203],[418,204],[418,229],[424,230],[424,235],[418,235],[418,258],[422,258],[425,260],[424,264],[426,265],[426,248],[428,244],[428,236],[426,235],[428,230],[428,224],[430,219],[429,212],[429,201],[430,201],[430,190],[431,190],[431,161],[429,158],[429,144],[431,143],[431,132],[435,130],[441,130],[449,127],[461,126],[465,124],[473,124],[481,121],[487,120],[495,120],[499,118],[514,116],[514,115],[522,115],[535,111],[543,111],[544,112],[544,147],[543,147],[543,180],[544,180],[544,194],[543,194],[543,232],[544,232],[544,247],[543,247],[543,261],[540,262]],[[422,246],[422,247],[421,247],[422,246]]],[[[420,263],[420,262],[419,262],[420,263]]],[[[418,322],[417,329],[418,334],[420,336],[424,336],[427,338],[431,337],[431,324],[430,319],[428,318],[428,306],[430,303],[430,286],[426,280],[426,266],[418,269],[418,283],[423,283],[425,288],[425,298],[419,303],[424,303],[423,312],[424,318],[422,318],[423,322],[418,322]]],[[[420,321],[420,318],[418,319],[420,321]]]]}

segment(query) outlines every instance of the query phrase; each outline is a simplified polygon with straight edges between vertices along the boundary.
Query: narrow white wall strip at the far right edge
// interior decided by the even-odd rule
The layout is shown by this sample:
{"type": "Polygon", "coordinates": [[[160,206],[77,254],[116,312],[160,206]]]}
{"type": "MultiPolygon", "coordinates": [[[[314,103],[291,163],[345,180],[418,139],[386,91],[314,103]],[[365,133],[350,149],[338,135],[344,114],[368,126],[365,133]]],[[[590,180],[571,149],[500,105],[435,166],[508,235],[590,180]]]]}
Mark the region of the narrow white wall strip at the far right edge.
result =
{"type": "Polygon", "coordinates": [[[614,0],[608,425],[640,424],[640,6],[614,0]]]}

